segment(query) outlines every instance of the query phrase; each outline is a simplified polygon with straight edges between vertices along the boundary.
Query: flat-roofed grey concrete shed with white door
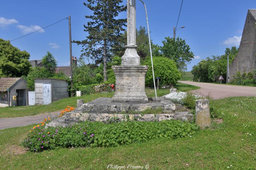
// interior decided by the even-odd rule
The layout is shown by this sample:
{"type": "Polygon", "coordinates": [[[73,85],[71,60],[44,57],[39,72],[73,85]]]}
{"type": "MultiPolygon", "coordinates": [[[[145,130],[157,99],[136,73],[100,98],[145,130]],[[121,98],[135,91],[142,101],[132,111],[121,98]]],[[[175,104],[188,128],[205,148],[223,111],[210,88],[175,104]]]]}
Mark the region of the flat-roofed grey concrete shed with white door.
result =
{"type": "Polygon", "coordinates": [[[35,79],[35,104],[49,104],[68,97],[66,80],[35,79]]]}

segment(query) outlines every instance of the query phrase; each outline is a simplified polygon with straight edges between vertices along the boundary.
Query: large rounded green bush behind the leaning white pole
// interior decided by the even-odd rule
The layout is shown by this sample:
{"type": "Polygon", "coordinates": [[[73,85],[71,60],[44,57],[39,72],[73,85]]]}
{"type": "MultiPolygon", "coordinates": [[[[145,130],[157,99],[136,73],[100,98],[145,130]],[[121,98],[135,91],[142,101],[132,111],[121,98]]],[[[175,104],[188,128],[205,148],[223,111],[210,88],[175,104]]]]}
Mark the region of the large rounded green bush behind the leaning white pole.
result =
{"type": "MultiPolygon", "coordinates": [[[[180,79],[180,72],[177,69],[176,64],[167,57],[153,57],[154,64],[154,74],[156,77],[161,77],[159,81],[159,86],[163,86],[165,84],[175,86],[177,81],[180,79]]],[[[145,77],[145,85],[148,87],[153,87],[153,73],[152,73],[152,65],[151,58],[147,57],[144,61],[142,61],[141,65],[148,65],[149,68],[145,77]]]]}

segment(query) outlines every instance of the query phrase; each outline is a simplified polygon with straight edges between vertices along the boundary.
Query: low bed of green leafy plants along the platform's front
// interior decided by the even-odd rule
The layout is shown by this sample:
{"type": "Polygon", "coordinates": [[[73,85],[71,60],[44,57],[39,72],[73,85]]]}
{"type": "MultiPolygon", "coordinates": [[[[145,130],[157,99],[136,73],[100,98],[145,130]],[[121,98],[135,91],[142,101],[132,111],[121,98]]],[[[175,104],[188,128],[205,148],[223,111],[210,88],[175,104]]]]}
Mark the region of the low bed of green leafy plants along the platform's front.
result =
{"type": "Polygon", "coordinates": [[[28,133],[23,146],[35,152],[68,147],[116,147],[151,139],[191,136],[196,130],[197,125],[178,120],[110,124],[82,122],[67,128],[43,129],[39,126],[28,133]]]}

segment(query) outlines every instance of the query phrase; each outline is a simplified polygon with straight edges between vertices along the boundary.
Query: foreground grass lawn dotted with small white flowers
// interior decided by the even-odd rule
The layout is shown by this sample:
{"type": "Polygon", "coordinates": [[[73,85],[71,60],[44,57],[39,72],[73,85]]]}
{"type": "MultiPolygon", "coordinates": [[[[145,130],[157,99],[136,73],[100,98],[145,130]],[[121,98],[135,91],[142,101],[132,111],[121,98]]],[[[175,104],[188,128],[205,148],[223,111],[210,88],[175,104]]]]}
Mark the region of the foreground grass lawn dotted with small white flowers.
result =
{"type": "Polygon", "coordinates": [[[0,131],[1,169],[106,169],[109,164],[149,169],[255,169],[256,98],[213,100],[220,124],[175,140],[152,140],[110,148],[26,152],[20,144],[33,127],[0,131]],[[251,134],[251,135],[250,135],[251,134]],[[232,165],[232,166],[231,166],[232,165]]]}

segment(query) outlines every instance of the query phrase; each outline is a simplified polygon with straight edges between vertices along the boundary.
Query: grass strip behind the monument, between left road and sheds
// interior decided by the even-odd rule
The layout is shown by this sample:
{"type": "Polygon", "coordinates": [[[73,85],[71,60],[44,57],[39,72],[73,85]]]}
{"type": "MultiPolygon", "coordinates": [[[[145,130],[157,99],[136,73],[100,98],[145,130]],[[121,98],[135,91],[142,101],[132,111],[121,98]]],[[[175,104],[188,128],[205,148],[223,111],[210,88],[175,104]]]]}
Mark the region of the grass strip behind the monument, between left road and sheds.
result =
{"type": "MultiPolygon", "coordinates": [[[[169,94],[170,89],[159,89],[157,90],[157,96],[163,96],[169,94]]],[[[146,94],[148,97],[155,96],[155,90],[151,88],[146,88],[146,94]]],[[[99,93],[94,95],[85,95],[82,97],[72,97],[66,98],[59,101],[55,101],[48,105],[35,105],[35,106],[19,106],[19,107],[2,107],[0,109],[0,118],[10,118],[10,117],[23,117],[38,115],[41,113],[49,113],[61,111],[67,106],[76,107],[77,99],[84,99],[84,102],[95,100],[99,97],[113,97],[114,93],[99,93]]]]}

